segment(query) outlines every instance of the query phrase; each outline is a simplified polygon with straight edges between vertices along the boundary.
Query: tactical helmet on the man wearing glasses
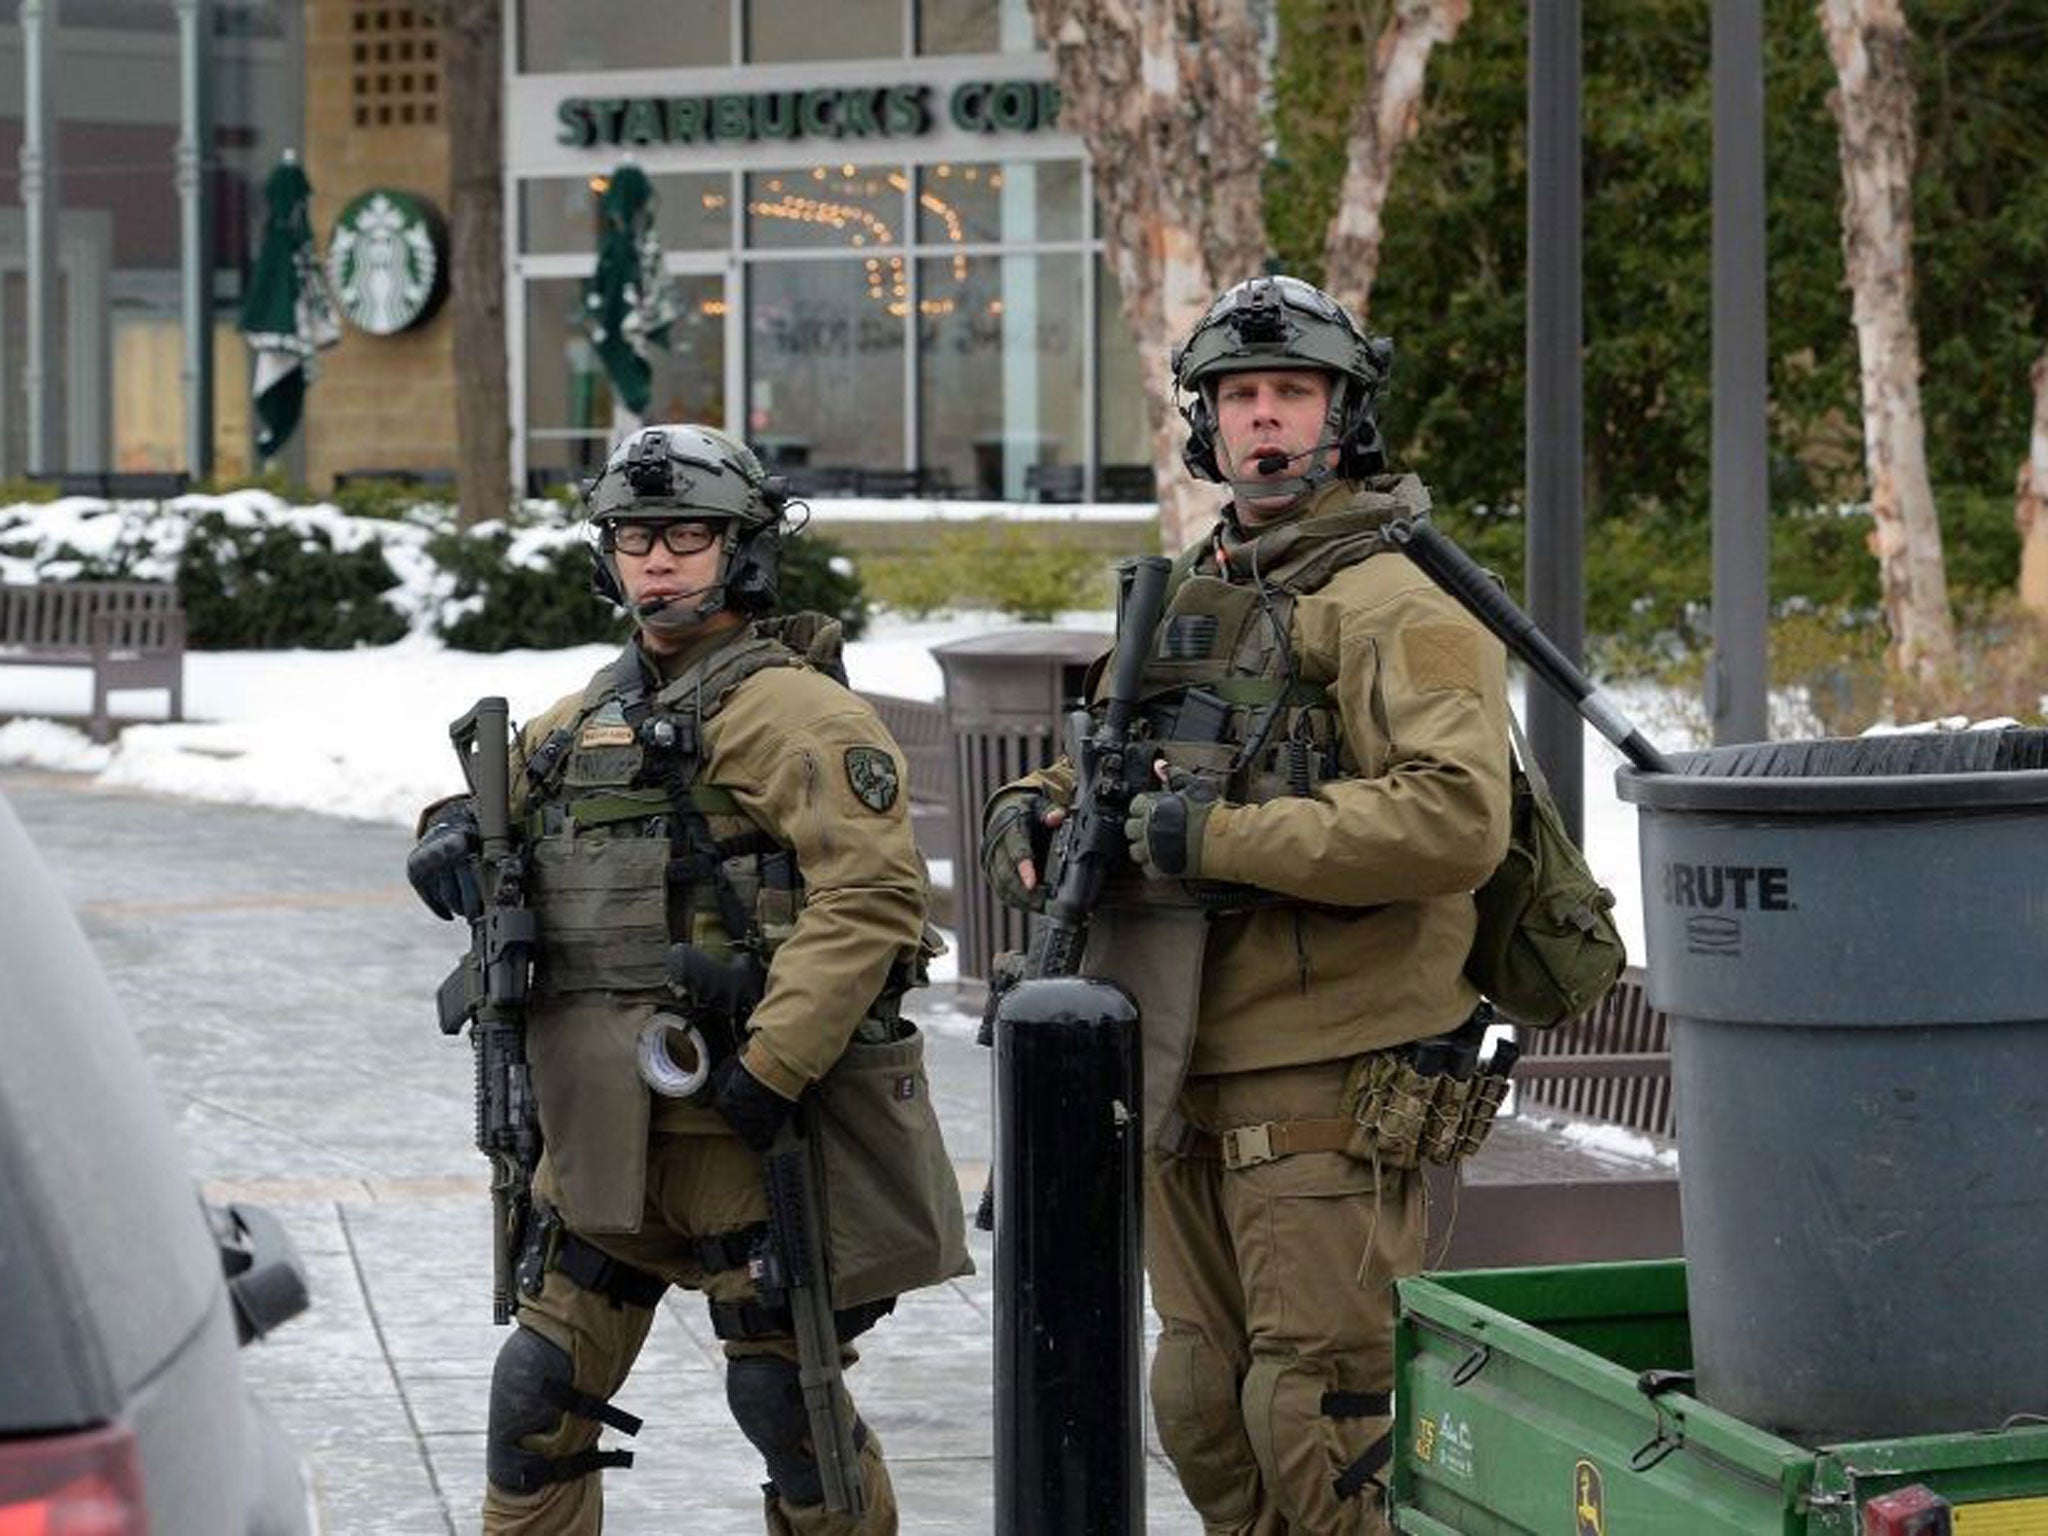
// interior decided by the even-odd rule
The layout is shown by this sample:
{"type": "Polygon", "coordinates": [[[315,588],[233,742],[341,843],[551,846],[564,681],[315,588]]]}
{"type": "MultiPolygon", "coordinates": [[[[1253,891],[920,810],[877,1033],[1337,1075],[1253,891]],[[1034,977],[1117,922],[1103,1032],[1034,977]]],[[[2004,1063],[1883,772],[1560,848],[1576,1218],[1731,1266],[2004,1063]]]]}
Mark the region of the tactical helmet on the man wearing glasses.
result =
{"type": "MultiPolygon", "coordinates": [[[[743,614],[774,606],[788,487],[754,451],[711,426],[647,426],[625,438],[586,487],[592,584],[627,606],[614,557],[614,524],[649,520],[723,522],[719,575],[705,600],[670,621],[700,623],[721,608],[743,614]]],[[[635,614],[647,623],[647,614],[635,614]]]]}

